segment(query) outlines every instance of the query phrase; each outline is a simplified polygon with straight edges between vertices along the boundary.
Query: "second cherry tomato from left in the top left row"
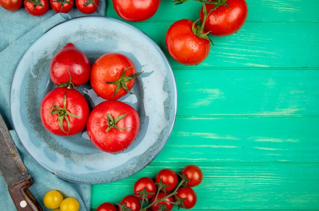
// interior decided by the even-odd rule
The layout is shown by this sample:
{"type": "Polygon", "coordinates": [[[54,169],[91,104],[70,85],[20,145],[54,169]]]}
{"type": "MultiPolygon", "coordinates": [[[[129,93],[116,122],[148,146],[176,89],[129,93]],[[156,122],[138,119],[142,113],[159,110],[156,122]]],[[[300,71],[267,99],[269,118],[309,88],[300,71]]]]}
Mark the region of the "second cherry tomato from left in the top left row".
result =
{"type": "Polygon", "coordinates": [[[34,16],[43,15],[49,10],[48,0],[24,0],[23,4],[26,12],[34,16]]]}

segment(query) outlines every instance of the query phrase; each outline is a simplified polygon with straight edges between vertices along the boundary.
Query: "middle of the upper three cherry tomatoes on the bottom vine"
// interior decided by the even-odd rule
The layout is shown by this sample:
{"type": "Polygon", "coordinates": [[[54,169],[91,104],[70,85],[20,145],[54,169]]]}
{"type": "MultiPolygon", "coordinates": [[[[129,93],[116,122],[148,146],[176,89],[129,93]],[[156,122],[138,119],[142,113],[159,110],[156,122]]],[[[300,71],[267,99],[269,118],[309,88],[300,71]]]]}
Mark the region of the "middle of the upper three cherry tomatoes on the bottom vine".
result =
{"type": "Polygon", "coordinates": [[[166,192],[173,191],[178,182],[177,174],[170,169],[162,169],[158,172],[155,181],[159,183],[161,180],[164,184],[169,185],[165,188],[166,192]]]}

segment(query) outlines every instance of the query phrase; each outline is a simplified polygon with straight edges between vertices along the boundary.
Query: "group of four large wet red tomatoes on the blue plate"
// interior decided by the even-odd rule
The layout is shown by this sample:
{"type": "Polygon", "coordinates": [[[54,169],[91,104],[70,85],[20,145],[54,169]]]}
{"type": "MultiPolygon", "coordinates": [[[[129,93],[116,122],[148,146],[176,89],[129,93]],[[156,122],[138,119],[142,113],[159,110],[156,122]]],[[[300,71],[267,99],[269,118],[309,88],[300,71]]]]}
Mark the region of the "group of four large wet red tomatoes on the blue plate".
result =
{"type": "Polygon", "coordinates": [[[91,68],[89,58],[74,44],[66,44],[51,60],[49,73],[58,88],[47,93],[40,108],[43,126],[55,135],[70,136],[87,132],[100,150],[115,153],[126,149],[138,135],[140,119],[131,106],[116,101],[135,83],[134,63],[125,55],[109,53],[98,58],[91,68]],[[104,101],[90,112],[78,86],[91,83],[104,101]]]}

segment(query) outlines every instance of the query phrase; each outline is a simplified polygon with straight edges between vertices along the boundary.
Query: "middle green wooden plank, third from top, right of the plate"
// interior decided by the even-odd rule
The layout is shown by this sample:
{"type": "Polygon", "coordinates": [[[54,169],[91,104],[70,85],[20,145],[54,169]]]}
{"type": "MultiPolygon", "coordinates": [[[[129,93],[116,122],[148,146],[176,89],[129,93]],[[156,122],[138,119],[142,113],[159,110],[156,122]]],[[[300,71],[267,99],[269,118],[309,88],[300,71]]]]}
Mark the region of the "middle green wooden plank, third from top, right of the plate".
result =
{"type": "Polygon", "coordinates": [[[179,115],[319,115],[319,69],[178,69],[179,115]]]}

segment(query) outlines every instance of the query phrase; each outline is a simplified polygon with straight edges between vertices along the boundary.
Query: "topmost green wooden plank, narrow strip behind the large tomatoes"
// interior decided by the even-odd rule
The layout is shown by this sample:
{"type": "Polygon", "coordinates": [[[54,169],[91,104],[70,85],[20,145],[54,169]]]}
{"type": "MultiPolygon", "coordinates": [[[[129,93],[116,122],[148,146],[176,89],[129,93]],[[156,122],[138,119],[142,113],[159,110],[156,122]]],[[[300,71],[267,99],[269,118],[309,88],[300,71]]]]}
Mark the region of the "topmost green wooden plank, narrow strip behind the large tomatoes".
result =
{"type": "MultiPolygon", "coordinates": [[[[247,0],[248,17],[251,21],[319,21],[319,13],[313,8],[319,7],[317,0],[247,0]]],[[[187,2],[174,7],[172,1],[162,0],[156,14],[146,20],[147,22],[176,21],[182,18],[196,20],[199,16],[201,4],[198,2],[187,2]]],[[[121,19],[113,8],[112,1],[108,1],[106,15],[121,19]]],[[[121,19],[122,20],[122,19],[121,19]]]]}

